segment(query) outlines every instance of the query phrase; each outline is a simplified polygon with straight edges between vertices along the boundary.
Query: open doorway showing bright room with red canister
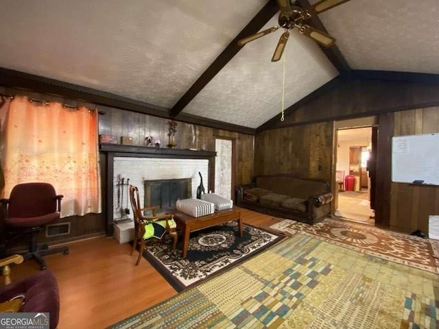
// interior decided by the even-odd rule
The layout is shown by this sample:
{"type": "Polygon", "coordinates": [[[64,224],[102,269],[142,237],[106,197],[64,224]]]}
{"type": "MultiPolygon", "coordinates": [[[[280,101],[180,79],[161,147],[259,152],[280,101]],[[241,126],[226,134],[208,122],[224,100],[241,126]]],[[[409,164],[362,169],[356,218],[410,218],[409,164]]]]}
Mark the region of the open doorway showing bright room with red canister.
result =
{"type": "Polygon", "coordinates": [[[368,163],[372,151],[372,126],[336,130],[336,217],[375,225],[370,208],[368,163]]]}

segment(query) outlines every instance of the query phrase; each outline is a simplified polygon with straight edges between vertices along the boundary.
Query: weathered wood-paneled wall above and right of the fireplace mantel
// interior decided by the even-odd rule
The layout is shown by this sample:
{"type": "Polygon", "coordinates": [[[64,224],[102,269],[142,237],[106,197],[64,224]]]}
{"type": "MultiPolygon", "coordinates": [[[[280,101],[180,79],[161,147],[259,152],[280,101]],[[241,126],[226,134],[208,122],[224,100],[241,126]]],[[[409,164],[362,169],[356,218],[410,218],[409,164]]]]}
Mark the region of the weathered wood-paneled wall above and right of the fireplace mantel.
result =
{"type": "MultiPolygon", "coordinates": [[[[99,106],[99,110],[105,112],[99,115],[99,134],[112,134],[119,138],[130,136],[132,144],[138,146],[145,146],[145,137],[153,136],[154,139],[161,140],[162,147],[166,147],[168,143],[167,119],[104,106],[99,106]]],[[[178,149],[195,148],[215,151],[215,138],[235,140],[237,160],[235,185],[251,182],[254,136],[178,122],[176,132],[176,148],[178,149]],[[193,138],[194,133],[195,138],[193,138]]]]}

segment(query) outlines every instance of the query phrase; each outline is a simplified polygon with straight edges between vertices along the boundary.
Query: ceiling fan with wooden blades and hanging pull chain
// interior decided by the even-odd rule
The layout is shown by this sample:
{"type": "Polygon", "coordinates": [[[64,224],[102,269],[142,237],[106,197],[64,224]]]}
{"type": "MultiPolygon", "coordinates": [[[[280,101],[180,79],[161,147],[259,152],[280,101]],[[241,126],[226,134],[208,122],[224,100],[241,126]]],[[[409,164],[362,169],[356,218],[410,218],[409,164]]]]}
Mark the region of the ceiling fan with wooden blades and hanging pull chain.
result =
{"type": "Polygon", "coordinates": [[[261,38],[261,36],[270,34],[276,31],[276,29],[278,29],[279,27],[283,27],[285,29],[285,32],[281,35],[281,38],[279,39],[279,42],[276,46],[276,49],[274,50],[274,54],[272,57],[272,62],[277,62],[281,59],[283,49],[285,48],[285,45],[287,45],[289,30],[297,27],[298,32],[300,32],[304,36],[315,40],[325,47],[331,47],[335,42],[335,38],[329,36],[329,34],[323,31],[320,31],[320,29],[316,29],[314,27],[311,27],[310,25],[307,25],[306,22],[311,18],[311,16],[320,14],[321,12],[334,8],[335,6],[341,5],[342,3],[345,3],[347,1],[349,0],[320,0],[317,3],[311,5],[309,9],[304,10],[295,5],[297,2],[296,0],[277,0],[278,7],[281,10],[278,17],[279,25],[274,25],[269,29],[264,29],[257,34],[253,34],[251,36],[243,38],[238,41],[238,45],[244,46],[250,41],[261,38]]]}

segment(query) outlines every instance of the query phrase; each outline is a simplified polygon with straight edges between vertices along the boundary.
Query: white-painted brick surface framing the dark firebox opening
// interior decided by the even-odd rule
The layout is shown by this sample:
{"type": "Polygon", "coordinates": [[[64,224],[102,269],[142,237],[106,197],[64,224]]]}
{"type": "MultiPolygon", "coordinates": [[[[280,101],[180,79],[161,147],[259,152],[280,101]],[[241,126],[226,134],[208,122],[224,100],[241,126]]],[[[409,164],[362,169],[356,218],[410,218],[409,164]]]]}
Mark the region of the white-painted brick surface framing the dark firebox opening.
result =
{"type": "MultiPolygon", "coordinates": [[[[197,195],[200,185],[200,171],[203,177],[205,191],[209,191],[209,160],[204,159],[168,159],[168,158],[123,158],[116,157],[114,161],[113,176],[113,219],[121,218],[117,208],[117,175],[130,178],[130,184],[139,188],[141,205],[145,195],[144,180],[171,180],[174,178],[192,178],[192,197],[197,195]]],[[[121,208],[130,209],[129,217],[132,218],[132,209],[129,200],[128,186],[123,189],[123,205],[121,208]],[[128,205],[128,206],[127,206],[128,205]]]]}

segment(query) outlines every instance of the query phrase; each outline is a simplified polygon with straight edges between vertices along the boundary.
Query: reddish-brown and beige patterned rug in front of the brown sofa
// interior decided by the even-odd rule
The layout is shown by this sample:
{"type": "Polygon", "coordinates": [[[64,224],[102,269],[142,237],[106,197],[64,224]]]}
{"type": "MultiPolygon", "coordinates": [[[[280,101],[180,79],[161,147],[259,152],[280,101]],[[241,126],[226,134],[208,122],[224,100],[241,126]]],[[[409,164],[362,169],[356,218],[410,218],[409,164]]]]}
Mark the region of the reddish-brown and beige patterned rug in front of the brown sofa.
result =
{"type": "Polygon", "coordinates": [[[334,219],[324,219],[316,225],[285,219],[270,228],[291,234],[307,234],[342,247],[366,254],[392,260],[439,273],[438,259],[428,239],[366,227],[355,223],[346,223],[334,219]]]}

